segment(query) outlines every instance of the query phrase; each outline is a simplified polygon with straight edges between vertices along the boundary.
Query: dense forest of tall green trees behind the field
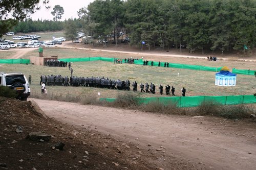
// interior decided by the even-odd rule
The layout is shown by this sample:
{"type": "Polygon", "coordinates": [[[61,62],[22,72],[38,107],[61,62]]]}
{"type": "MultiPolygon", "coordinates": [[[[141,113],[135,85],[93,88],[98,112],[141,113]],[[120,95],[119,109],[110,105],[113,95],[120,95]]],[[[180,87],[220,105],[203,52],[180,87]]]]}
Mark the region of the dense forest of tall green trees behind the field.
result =
{"type": "MultiPolygon", "coordinates": [[[[77,30],[95,37],[123,32],[130,44],[144,41],[148,50],[185,45],[189,52],[230,53],[255,47],[255,15],[256,0],[95,0],[72,21],[77,30]]],[[[26,20],[14,29],[53,31],[64,29],[65,23],[26,20]],[[37,22],[34,28],[30,22],[37,22]]]]}

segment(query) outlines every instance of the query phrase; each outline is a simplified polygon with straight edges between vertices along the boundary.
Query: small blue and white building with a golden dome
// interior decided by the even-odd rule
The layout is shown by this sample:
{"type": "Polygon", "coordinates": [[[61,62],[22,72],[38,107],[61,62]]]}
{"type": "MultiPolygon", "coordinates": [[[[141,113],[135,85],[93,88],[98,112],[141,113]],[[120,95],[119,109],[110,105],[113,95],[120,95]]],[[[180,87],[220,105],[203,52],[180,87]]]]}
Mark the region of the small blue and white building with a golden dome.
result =
{"type": "Polygon", "coordinates": [[[236,86],[237,75],[229,71],[228,67],[224,66],[220,72],[215,74],[216,86],[236,86]]]}

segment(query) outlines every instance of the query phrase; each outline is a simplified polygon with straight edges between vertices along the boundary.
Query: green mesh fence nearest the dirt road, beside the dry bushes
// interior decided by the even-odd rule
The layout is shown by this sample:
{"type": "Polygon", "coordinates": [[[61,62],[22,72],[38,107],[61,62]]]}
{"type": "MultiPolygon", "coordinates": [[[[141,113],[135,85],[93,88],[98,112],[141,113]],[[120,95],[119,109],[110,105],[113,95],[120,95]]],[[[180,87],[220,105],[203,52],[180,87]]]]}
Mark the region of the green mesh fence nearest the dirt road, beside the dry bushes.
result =
{"type": "MultiPolygon", "coordinates": [[[[116,99],[100,98],[100,101],[114,102],[116,99]]],[[[141,104],[150,104],[152,102],[164,105],[176,104],[177,107],[197,107],[202,102],[214,101],[221,105],[239,105],[256,103],[253,95],[229,95],[229,96],[174,96],[159,98],[140,98],[141,104]]]]}

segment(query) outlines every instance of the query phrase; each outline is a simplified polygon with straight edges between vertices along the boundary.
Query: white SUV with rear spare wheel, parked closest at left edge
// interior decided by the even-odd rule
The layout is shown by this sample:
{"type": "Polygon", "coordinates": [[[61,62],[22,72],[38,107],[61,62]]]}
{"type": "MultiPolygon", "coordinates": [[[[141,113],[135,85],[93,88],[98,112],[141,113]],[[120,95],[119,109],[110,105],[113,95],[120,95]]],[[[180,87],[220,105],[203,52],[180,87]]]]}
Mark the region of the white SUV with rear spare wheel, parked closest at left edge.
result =
{"type": "Polygon", "coordinates": [[[14,89],[18,96],[16,99],[27,101],[30,95],[29,82],[26,76],[22,73],[9,73],[0,72],[0,85],[8,86],[14,89]]]}

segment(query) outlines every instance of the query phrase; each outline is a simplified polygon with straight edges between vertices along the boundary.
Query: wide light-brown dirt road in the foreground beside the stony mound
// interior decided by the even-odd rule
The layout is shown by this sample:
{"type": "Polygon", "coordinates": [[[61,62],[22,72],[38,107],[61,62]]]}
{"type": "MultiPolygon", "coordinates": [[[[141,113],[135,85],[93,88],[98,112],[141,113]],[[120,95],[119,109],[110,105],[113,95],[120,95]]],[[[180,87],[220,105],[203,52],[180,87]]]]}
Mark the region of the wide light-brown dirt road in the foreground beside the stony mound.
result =
{"type": "MultiPolygon", "coordinates": [[[[205,169],[256,167],[255,123],[215,117],[160,115],[135,110],[34,100],[49,116],[75,127],[88,127],[140,148],[159,149],[205,169]],[[150,144],[149,144],[150,143],[150,144]],[[151,145],[151,146],[149,146],[151,145]]],[[[171,169],[168,159],[159,160],[171,169]]]]}

